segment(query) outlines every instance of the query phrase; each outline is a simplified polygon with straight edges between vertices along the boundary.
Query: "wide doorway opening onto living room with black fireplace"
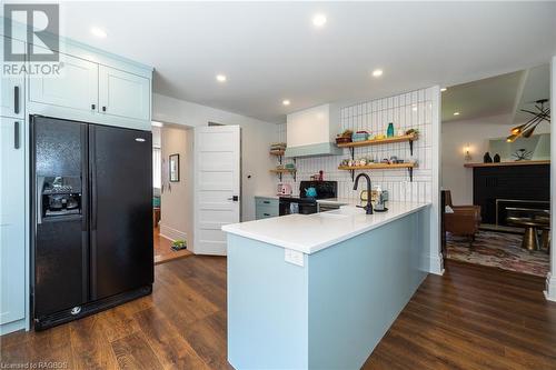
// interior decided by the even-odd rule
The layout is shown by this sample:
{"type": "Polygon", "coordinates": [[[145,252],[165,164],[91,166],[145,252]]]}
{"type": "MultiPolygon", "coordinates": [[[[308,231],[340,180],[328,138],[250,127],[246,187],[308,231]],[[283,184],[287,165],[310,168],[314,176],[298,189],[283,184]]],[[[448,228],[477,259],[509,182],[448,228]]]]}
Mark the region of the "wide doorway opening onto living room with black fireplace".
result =
{"type": "Polygon", "coordinates": [[[550,70],[443,92],[444,254],[545,278],[550,269],[550,70]]]}

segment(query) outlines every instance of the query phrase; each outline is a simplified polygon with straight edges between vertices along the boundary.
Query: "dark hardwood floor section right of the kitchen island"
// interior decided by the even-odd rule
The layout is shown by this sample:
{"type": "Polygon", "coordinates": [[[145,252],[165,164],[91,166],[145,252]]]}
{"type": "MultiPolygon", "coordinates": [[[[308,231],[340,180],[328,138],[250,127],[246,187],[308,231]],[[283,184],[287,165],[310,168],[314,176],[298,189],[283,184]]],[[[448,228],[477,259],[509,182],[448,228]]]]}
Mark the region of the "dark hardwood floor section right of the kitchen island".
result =
{"type": "Polygon", "coordinates": [[[448,261],[428,276],[364,369],[556,369],[545,280],[448,261]]]}

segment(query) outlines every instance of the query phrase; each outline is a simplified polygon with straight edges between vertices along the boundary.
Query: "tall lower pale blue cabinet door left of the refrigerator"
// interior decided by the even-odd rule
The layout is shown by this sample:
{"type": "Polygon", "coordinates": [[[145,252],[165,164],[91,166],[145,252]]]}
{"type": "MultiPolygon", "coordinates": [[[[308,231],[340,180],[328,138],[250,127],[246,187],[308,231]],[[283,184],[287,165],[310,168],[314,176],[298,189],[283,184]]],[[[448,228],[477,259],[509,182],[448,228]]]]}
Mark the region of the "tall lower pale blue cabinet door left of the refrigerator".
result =
{"type": "Polygon", "coordinates": [[[26,304],[24,122],[0,119],[0,324],[23,319],[26,304]]]}

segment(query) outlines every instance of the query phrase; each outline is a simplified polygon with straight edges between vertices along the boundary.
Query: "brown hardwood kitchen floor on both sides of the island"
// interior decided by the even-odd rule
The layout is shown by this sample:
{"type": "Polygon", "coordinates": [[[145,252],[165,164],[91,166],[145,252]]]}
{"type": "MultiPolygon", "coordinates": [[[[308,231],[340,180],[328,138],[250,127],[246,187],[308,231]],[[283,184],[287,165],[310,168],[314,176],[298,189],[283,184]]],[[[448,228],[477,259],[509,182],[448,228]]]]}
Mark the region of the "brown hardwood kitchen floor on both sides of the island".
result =
{"type": "MultiPolygon", "coordinates": [[[[544,279],[449,262],[429,276],[364,369],[556,369],[544,279]]],[[[1,338],[2,368],[228,369],[226,259],[157,266],[152,296],[43,332],[1,338]]]]}

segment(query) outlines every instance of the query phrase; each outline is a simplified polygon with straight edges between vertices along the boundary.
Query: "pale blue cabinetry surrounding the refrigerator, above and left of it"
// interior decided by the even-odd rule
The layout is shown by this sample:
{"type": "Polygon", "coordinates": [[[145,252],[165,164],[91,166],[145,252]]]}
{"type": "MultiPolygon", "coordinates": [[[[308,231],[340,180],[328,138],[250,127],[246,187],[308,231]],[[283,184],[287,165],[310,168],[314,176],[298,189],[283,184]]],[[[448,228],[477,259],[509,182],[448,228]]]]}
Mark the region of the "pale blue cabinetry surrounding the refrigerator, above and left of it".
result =
{"type": "MultiPolygon", "coordinates": [[[[0,34],[2,70],[7,40],[0,34]]],[[[24,40],[10,41],[24,52],[24,40]]],[[[151,129],[151,67],[69,39],[60,46],[59,76],[0,72],[0,336],[29,329],[32,319],[29,118],[151,129]]]]}

